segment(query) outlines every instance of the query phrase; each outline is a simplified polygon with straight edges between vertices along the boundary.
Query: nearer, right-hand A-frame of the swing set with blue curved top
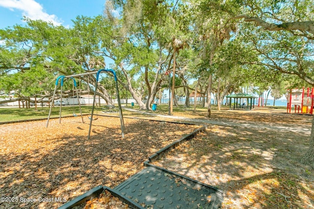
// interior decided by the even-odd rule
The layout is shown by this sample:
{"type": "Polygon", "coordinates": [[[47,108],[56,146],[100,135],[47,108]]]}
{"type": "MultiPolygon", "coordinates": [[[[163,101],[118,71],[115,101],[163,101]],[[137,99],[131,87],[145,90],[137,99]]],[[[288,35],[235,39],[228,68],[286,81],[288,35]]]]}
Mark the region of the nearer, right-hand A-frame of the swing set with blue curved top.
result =
{"type": "Polygon", "coordinates": [[[90,123],[89,123],[89,130],[88,130],[88,138],[87,139],[90,138],[90,131],[91,131],[91,127],[92,127],[94,107],[95,107],[95,98],[96,98],[97,84],[98,84],[98,80],[99,80],[99,74],[102,71],[111,72],[114,75],[114,80],[115,80],[115,83],[116,83],[117,99],[118,99],[118,105],[119,105],[121,132],[122,132],[122,138],[124,138],[125,127],[124,127],[124,120],[123,120],[123,115],[122,115],[122,108],[121,108],[121,101],[120,101],[120,95],[119,95],[119,89],[118,89],[118,80],[117,80],[116,72],[114,70],[112,70],[112,69],[110,69],[110,70],[102,69],[102,70],[98,70],[97,75],[96,75],[95,92],[94,92],[94,98],[93,98],[94,100],[93,100],[91,120],[90,120],[90,123]]]}

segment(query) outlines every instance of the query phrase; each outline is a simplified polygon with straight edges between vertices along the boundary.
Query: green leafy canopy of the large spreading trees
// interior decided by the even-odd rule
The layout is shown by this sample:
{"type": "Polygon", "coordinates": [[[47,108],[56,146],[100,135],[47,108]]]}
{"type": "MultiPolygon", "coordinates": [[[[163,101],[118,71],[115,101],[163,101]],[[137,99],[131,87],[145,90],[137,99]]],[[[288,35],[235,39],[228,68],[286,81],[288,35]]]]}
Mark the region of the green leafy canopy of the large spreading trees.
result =
{"type": "MultiPolygon", "coordinates": [[[[267,90],[278,72],[314,85],[312,1],[153,2],[108,0],[104,15],[78,16],[72,28],[26,20],[26,26],[1,29],[1,93],[50,97],[57,75],[105,67],[118,71],[119,83],[142,109],[150,109],[171,70],[173,78],[182,79],[182,88],[189,79],[213,77],[213,87],[207,84],[204,92],[208,96],[211,90],[217,93],[214,88],[222,81],[221,98],[242,91],[239,87],[263,85],[267,90]],[[241,77],[227,84],[226,76],[241,77]]],[[[99,88],[111,103],[108,87],[99,88]]]]}

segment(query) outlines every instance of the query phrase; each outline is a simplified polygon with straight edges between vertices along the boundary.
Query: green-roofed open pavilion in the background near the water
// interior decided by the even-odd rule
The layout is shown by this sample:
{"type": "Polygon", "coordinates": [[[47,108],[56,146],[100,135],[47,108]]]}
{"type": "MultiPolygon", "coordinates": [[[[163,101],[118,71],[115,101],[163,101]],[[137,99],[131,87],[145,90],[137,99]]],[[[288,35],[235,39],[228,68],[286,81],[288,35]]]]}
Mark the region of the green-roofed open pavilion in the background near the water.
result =
{"type": "Polygon", "coordinates": [[[232,105],[232,98],[234,98],[233,102],[233,110],[252,110],[254,108],[254,101],[257,96],[253,96],[247,93],[236,93],[226,96],[230,98],[229,100],[229,108],[230,110],[232,105]]]}

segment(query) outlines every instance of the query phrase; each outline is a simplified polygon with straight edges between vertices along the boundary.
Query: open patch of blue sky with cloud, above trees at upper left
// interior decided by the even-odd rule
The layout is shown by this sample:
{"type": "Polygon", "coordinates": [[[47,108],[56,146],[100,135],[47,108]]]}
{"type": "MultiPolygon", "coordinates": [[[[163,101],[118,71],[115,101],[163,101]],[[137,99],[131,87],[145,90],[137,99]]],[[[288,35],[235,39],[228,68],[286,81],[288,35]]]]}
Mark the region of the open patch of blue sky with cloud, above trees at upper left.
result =
{"type": "Polygon", "coordinates": [[[24,24],[23,16],[71,27],[77,16],[103,14],[105,0],[0,0],[0,29],[24,24]]]}

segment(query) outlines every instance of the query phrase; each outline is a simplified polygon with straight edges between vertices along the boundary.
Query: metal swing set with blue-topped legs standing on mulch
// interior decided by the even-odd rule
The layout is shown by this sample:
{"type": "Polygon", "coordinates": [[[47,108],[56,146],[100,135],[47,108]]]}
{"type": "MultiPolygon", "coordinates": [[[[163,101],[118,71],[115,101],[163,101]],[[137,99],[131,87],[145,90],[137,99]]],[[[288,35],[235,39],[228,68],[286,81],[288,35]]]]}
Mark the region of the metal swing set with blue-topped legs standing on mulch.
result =
{"type": "MultiPolygon", "coordinates": [[[[53,96],[52,96],[52,104],[54,101],[54,96],[57,90],[57,86],[58,86],[58,82],[60,81],[60,86],[61,86],[61,96],[60,96],[60,103],[62,103],[62,88],[63,88],[63,80],[65,78],[72,78],[73,79],[73,86],[76,89],[76,93],[77,93],[77,98],[78,98],[78,106],[79,106],[79,111],[80,111],[80,116],[82,119],[82,122],[84,123],[83,120],[83,116],[82,116],[82,111],[81,111],[81,106],[80,106],[80,101],[79,101],[79,97],[78,97],[78,91],[77,91],[77,84],[75,81],[75,77],[80,77],[80,76],[85,76],[85,75],[93,75],[96,74],[96,83],[95,83],[95,91],[94,91],[94,96],[93,96],[93,106],[92,106],[92,110],[91,110],[91,115],[88,117],[90,119],[90,123],[89,123],[89,130],[88,130],[88,138],[90,139],[90,132],[91,132],[91,127],[92,127],[92,122],[93,120],[97,120],[98,117],[93,118],[94,115],[94,109],[95,109],[95,100],[96,100],[96,92],[97,92],[97,86],[98,86],[98,81],[99,81],[99,74],[101,72],[111,72],[113,74],[114,77],[114,81],[115,81],[115,86],[116,86],[116,92],[117,92],[117,99],[118,99],[118,105],[119,105],[119,115],[120,115],[120,123],[121,123],[121,132],[122,132],[122,138],[124,138],[124,131],[125,131],[125,126],[124,126],[124,120],[123,120],[123,115],[122,115],[122,108],[121,108],[121,101],[120,101],[120,95],[119,95],[119,88],[118,88],[118,80],[117,80],[117,76],[114,70],[109,69],[109,70],[98,70],[98,71],[94,71],[94,72],[86,72],[86,73],[81,73],[81,74],[73,74],[73,75],[60,75],[57,77],[56,81],[55,81],[55,87],[54,87],[54,92],[53,92],[53,96]]],[[[89,85],[89,84],[88,84],[89,85]]],[[[89,87],[88,87],[89,90],[89,87]]],[[[62,105],[60,105],[60,116],[59,116],[59,123],[61,123],[61,107],[62,105]]],[[[97,110],[96,110],[97,111],[97,110]]],[[[47,119],[47,124],[46,124],[46,128],[48,127],[49,124],[49,119],[52,113],[52,106],[50,107],[50,111],[49,111],[49,115],[48,115],[48,119],[47,119]]],[[[96,114],[97,115],[97,114],[96,114]]],[[[75,112],[73,111],[73,116],[77,116],[75,114],[75,112]]]]}

